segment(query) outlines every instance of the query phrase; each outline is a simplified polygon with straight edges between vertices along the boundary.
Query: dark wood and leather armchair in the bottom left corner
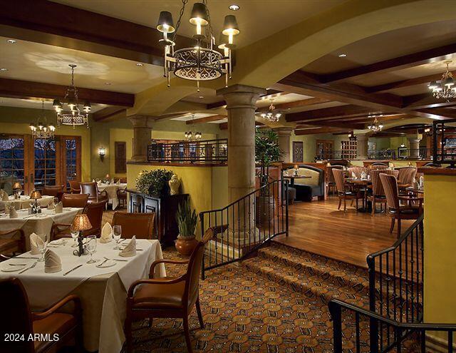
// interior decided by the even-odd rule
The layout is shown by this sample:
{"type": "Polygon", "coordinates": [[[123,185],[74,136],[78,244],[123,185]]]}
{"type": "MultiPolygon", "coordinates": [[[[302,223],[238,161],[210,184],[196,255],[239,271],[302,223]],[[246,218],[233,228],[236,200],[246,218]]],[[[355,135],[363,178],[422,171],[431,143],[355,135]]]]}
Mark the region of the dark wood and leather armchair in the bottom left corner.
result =
{"type": "Polygon", "coordinates": [[[0,280],[1,313],[0,352],[41,353],[57,352],[66,346],[76,346],[79,352],[83,347],[81,302],[76,295],[68,295],[43,312],[32,312],[24,285],[18,278],[0,280]],[[72,313],[58,312],[63,306],[73,302],[72,313]],[[4,334],[19,334],[24,340],[6,340],[4,334]],[[27,339],[33,334],[49,334],[58,339],[27,339]]]}

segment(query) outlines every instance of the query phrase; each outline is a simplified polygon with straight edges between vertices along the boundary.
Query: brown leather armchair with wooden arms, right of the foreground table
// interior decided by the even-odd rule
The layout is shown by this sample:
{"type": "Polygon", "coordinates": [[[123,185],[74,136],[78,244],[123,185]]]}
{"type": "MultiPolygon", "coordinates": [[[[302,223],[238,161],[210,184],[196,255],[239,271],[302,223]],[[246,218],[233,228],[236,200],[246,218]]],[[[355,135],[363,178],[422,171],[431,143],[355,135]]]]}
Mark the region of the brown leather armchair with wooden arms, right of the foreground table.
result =
{"type": "Polygon", "coordinates": [[[202,241],[198,242],[189,260],[156,260],[152,262],[149,279],[138,280],[130,286],[127,296],[127,318],[125,319],[127,352],[132,352],[133,349],[131,328],[133,322],[149,318],[149,324],[152,325],[152,319],[155,317],[182,319],[187,351],[193,352],[188,318],[192,314],[193,308],[196,307],[199,327],[204,328],[201,306],[199,305],[199,276],[202,270],[204,246],[213,236],[214,232],[212,228],[209,228],[204,233],[202,241]],[[177,278],[153,278],[155,266],[160,263],[188,264],[187,272],[177,278]]]}

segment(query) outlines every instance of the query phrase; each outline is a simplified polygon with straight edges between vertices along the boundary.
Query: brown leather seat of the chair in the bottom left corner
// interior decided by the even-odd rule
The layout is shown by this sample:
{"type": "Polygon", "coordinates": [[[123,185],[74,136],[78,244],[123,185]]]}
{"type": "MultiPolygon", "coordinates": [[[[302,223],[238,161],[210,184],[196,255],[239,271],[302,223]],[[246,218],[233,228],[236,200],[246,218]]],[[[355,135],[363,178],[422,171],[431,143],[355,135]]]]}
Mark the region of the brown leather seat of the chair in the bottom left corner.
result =
{"type": "MultiPolygon", "coordinates": [[[[58,334],[59,337],[63,337],[69,330],[75,329],[78,324],[78,320],[72,314],[64,314],[63,312],[56,312],[49,315],[48,317],[33,321],[33,332],[36,334],[58,334]]],[[[54,342],[52,341],[41,341],[36,340],[34,342],[35,351],[43,352],[54,342]]]]}

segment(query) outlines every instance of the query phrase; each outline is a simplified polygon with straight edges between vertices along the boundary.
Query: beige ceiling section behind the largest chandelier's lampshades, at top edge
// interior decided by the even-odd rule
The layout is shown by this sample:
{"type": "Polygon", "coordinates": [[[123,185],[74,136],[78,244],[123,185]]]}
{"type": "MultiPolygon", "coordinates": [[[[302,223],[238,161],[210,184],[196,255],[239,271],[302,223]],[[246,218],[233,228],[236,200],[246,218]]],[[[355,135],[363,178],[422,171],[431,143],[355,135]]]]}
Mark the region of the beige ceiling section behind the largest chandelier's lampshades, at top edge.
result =
{"type": "MultiPolygon", "coordinates": [[[[235,39],[238,47],[247,46],[282,29],[303,21],[319,12],[326,11],[345,0],[209,0],[209,15],[216,41],[222,31],[224,16],[233,14],[241,33],[235,39]],[[240,6],[238,11],[229,5],[240,6]]],[[[160,11],[170,11],[177,23],[182,3],[180,0],[54,0],[60,4],[97,12],[125,21],[155,28],[160,11]]],[[[193,4],[189,1],[179,34],[192,36],[195,27],[189,23],[193,4]]]]}

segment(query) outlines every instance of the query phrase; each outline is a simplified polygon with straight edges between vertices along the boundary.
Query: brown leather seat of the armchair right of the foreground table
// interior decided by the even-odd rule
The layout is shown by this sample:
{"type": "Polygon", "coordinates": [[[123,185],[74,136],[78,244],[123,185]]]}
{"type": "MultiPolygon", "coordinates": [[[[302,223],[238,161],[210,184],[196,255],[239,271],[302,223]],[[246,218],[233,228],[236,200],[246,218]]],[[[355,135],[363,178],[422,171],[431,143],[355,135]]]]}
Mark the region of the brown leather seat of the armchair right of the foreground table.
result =
{"type": "MultiPolygon", "coordinates": [[[[171,280],[173,277],[162,277],[154,280],[171,280]]],[[[185,281],[162,284],[141,285],[133,297],[133,309],[182,309],[182,297],[185,281]]]]}

